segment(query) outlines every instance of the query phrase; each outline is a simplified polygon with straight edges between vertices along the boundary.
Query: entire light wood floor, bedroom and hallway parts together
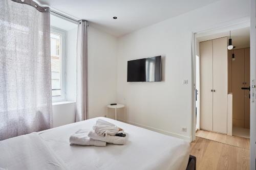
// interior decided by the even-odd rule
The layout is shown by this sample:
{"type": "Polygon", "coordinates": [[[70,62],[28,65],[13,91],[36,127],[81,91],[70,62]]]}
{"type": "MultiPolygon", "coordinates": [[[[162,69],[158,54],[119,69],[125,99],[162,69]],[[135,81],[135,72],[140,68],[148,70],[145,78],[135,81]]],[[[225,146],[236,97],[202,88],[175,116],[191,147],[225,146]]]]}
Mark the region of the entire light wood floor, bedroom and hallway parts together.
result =
{"type": "Polygon", "coordinates": [[[249,169],[250,139],[198,130],[190,143],[190,155],[197,157],[197,169],[249,169]]]}

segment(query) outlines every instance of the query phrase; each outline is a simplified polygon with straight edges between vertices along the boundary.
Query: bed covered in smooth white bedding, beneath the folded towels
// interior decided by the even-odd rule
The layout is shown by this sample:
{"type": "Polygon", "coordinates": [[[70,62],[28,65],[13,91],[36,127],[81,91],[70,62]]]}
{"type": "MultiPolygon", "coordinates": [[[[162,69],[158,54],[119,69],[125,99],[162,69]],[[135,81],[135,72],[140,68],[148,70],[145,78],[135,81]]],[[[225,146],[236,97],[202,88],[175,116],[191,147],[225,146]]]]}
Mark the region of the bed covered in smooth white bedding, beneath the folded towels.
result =
{"type": "MultiPolygon", "coordinates": [[[[45,145],[44,152],[37,150],[36,146],[26,152],[21,153],[18,151],[18,147],[12,148],[14,143],[24,142],[24,136],[19,136],[7,140],[0,141],[0,151],[4,151],[0,156],[0,169],[8,167],[9,169],[15,169],[20,165],[17,164],[12,154],[18,154],[20,157],[27,157],[29,152],[33,152],[34,155],[43,153],[44,155],[53,155],[49,158],[31,158],[31,160],[24,160],[24,162],[18,162],[22,164],[30,164],[30,161],[39,162],[39,167],[44,167],[44,163],[54,162],[55,166],[47,169],[186,169],[188,157],[189,157],[189,143],[175,137],[163,135],[157,132],[153,132],[147,129],[139,128],[133,125],[125,124],[117,120],[97,117],[88,120],[84,120],[79,123],[69,124],[58,128],[49,129],[46,131],[38,132],[39,142],[43,142],[45,145]],[[123,128],[127,134],[127,142],[125,145],[107,144],[106,147],[83,147],[78,145],[70,146],[69,137],[78,129],[92,129],[98,118],[104,119],[123,128]],[[20,142],[23,140],[23,142],[20,142]],[[8,148],[9,147],[9,148],[8,148]],[[9,162],[8,162],[9,161],[9,162]],[[57,163],[56,163],[57,162],[57,163]],[[17,164],[14,166],[13,164],[17,164]],[[12,166],[10,166],[12,165],[12,166]]],[[[36,134],[36,135],[37,135],[36,134]]],[[[30,134],[31,135],[31,134],[30,134]]],[[[29,139],[27,139],[29,140],[29,139]]],[[[33,141],[32,141],[33,142],[33,141]]],[[[36,141],[34,141],[36,142],[36,141]]],[[[31,145],[31,144],[30,144],[31,145]]],[[[25,147],[20,145],[19,147],[25,147]]],[[[29,146],[31,147],[31,146],[29,146]]],[[[26,148],[26,147],[25,147],[26,148]]],[[[42,149],[41,149],[42,150],[42,149]]],[[[24,150],[22,151],[24,152],[24,150]]],[[[15,156],[16,156],[15,155],[15,156]]],[[[44,156],[43,155],[43,156],[44,156]]],[[[18,157],[18,156],[16,156],[18,157]]],[[[24,158],[25,159],[25,158],[24,158]]],[[[35,168],[33,166],[26,165],[27,169],[35,168]]],[[[44,168],[40,168],[44,169],[44,168]]],[[[46,169],[46,168],[45,168],[46,169]]]]}

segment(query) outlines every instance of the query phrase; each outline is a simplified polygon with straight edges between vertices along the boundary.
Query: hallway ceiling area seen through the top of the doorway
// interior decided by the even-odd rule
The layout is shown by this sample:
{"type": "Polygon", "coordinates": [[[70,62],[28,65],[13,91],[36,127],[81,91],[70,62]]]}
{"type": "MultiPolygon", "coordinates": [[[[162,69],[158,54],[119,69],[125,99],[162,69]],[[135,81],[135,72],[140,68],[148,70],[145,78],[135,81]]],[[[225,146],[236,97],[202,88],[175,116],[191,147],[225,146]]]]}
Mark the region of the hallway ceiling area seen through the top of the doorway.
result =
{"type": "MultiPolygon", "coordinates": [[[[197,40],[199,42],[202,42],[202,41],[207,41],[210,39],[216,39],[220,37],[229,37],[229,31],[197,37],[197,40]]],[[[250,46],[250,27],[231,30],[231,39],[232,39],[232,45],[236,46],[236,49],[249,47],[250,46]]]]}

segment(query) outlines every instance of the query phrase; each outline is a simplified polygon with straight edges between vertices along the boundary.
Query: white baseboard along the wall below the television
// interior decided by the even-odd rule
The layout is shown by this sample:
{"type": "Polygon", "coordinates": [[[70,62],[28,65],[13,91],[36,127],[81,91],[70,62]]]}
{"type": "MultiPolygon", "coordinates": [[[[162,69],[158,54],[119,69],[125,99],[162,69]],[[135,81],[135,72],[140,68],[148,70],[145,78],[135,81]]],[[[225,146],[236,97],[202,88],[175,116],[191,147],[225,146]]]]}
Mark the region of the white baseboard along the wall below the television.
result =
{"type": "MultiPolygon", "coordinates": [[[[118,120],[118,121],[121,121],[121,122],[125,122],[125,120],[122,120],[122,119],[117,119],[117,120],[118,120]]],[[[141,128],[145,128],[145,129],[148,129],[148,130],[152,130],[152,131],[155,131],[155,132],[159,132],[159,133],[162,133],[162,134],[165,134],[165,135],[168,135],[168,136],[177,137],[177,138],[186,140],[186,141],[188,141],[188,142],[191,141],[191,139],[190,139],[189,136],[184,136],[184,135],[180,135],[180,134],[177,134],[177,133],[168,132],[168,131],[165,131],[165,130],[162,130],[162,129],[153,128],[153,127],[150,127],[150,126],[146,126],[146,125],[134,123],[134,122],[131,122],[131,121],[126,121],[126,123],[127,123],[127,124],[131,124],[131,125],[134,125],[134,126],[138,126],[138,127],[141,127],[141,128]]]]}

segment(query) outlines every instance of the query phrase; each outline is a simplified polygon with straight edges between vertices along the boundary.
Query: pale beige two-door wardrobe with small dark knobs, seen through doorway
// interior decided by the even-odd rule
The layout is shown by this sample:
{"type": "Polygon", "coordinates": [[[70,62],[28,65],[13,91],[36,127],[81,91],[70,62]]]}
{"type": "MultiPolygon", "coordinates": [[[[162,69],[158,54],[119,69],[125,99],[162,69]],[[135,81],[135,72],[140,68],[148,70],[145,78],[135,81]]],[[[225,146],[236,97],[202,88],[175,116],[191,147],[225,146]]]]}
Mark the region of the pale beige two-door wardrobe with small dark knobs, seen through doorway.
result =
{"type": "Polygon", "coordinates": [[[200,42],[200,128],[227,133],[227,37],[200,42]]]}

